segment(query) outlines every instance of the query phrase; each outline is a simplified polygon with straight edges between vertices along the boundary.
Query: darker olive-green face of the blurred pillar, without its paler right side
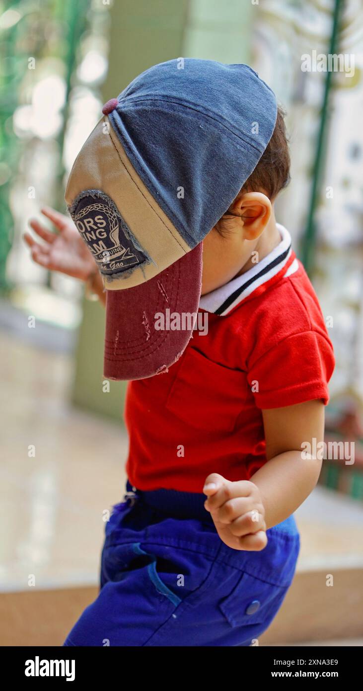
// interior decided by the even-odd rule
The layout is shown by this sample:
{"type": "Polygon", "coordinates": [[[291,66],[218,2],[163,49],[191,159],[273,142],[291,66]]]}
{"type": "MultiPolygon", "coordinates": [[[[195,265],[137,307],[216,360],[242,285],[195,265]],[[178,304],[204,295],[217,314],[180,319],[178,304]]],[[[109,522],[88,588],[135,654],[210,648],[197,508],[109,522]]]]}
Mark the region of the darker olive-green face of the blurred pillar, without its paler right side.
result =
{"type": "MultiPolygon", "coordinates": [[[[187,0],[117,0],[110,7],[108,76],[104,102],[117,97],[148,67],[180,57],[187,0]]],[[[115,419],[124,413],[126,382],[110,381],[103,391],[105,312],[98,302],[84,300],[79,329],[72,401],[81,408],[115,419]]]]}

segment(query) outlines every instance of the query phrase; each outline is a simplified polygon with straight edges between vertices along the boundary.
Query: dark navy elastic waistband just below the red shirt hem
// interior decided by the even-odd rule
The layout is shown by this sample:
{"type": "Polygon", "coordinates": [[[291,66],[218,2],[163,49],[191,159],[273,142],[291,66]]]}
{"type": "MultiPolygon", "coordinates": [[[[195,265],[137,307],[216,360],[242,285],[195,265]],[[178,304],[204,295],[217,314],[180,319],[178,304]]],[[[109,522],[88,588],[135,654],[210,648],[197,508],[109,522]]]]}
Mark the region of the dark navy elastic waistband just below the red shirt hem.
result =
{"type": "Polygon", "coordinates": [[[204,509],[206,495],[194,492],[179,492],[176,489],[153,489],[144,491],[133,489],[133,485],[126,482],[128,495],[144,501],[151,509],[165,513],[170,518],[196,518],[203,522],[213,523],[209,511],[204,509]]]}

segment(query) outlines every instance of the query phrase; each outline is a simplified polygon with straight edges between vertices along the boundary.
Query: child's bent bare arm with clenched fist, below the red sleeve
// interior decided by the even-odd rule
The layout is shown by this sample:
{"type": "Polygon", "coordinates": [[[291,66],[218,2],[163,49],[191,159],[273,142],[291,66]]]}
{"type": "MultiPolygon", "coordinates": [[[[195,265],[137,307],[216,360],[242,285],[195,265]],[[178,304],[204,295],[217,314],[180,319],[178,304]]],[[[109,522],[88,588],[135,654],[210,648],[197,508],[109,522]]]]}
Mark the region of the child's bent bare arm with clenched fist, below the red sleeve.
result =
{"type": "Polygon", "coordinates": [[[251,480],[230,482],[212,473],[204,486],[206,509],[213,516],[219,537],[233,549],[264,549],[266,530],[288,518],[304,502],[322,466],[320,458],[304,451],[309,448],[307,444],[312,451],[320,448],[324,440],[322,401],[263,410],[262,415],[266,464],[251,480]]]}

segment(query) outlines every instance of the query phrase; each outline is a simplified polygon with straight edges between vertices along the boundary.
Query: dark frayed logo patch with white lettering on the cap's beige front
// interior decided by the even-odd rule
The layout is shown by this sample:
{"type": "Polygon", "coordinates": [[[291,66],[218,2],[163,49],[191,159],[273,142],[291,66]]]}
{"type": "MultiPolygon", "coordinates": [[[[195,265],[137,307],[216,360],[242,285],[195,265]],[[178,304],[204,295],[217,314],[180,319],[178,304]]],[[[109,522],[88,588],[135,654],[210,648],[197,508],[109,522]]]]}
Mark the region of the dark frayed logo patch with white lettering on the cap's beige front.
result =
{"type": "Polygon", "coordinates": [[[148,261],[112,199],[99,190],[82,192],[70,209],[79,234],[102,274],[118,274],[148,261]]]}

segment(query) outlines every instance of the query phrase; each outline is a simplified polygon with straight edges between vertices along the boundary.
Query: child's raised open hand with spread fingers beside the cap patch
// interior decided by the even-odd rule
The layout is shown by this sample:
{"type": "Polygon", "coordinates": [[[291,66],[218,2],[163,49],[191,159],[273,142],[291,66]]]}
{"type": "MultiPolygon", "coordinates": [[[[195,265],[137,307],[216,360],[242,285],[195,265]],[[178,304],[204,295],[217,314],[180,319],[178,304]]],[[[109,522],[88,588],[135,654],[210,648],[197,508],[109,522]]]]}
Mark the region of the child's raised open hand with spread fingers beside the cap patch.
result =
{"type": "Polygon", "coordinates": [[[30,233],[24,234],[23,238],[32,251],[32,259],[50,271],[60,271],[62,274],[87,281],[90,274],[97,270],[97,265],[73,221],[50,207],[44,207],[41,213],[50,218],[59,233],[50,232],[32,218],[30,226],[37,236],[44,240],[44,243],[38,243],[30,233]]]}

